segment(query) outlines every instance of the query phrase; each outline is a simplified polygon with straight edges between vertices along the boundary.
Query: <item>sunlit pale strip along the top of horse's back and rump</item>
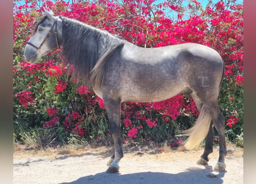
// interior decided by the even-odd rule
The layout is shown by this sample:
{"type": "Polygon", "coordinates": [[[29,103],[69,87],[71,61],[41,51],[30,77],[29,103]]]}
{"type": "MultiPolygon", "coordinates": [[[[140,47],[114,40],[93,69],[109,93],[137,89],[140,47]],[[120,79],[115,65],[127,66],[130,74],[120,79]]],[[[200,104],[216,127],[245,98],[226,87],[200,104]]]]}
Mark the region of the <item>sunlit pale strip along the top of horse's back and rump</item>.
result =
{"type": "MultiPolygon", "coordinates": [[[[222,59],[214,49],[201,44],[184,43],[169,45],[158,48],[142,48],[126,42],[121,52],[121,57],[129,62],[139,64],[161,64],[165,62],[175,62],[178,57],[196,56],[205,61],[221,63],[222,59]]],[[[189,61],[189,60],[187,60],[189,61]]]]}

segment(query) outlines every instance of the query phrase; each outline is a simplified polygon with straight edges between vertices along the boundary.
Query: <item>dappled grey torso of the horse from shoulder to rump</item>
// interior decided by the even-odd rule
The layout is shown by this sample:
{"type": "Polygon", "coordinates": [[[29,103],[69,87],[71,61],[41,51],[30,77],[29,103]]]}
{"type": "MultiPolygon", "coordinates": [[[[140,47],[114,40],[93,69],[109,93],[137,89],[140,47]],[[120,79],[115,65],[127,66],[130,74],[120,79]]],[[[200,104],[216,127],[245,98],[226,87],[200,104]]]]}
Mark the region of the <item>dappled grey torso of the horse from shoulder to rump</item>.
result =
{"type": "Polygon", "coordinates": [[[125,43],[109,69],[108,93],[122,101],[152,102],[205,87],[215,89],[223,62],[219,53],[200,44],[141,48],[125,43]]]}

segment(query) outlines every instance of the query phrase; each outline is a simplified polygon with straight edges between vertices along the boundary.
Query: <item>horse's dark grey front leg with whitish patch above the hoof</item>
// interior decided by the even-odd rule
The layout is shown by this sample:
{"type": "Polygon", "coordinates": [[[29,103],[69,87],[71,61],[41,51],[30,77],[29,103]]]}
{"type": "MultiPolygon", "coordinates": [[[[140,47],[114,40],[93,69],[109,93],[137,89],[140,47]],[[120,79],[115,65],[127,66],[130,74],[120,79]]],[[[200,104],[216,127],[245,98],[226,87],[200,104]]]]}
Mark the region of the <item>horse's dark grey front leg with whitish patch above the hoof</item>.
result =
{"type": "Polygon", "coordinates": [[[109,97],[104,97],[103,99],[106,112],[108,113],[110,131],[112,132],[112,137],[114,140],[114,155],[108,163],[107,173],[117,173],[119,171],[119,161],[123,158],[123,150],[121,145],[120,133],[120,104],[119,100],[114,100],[109,97]]]}

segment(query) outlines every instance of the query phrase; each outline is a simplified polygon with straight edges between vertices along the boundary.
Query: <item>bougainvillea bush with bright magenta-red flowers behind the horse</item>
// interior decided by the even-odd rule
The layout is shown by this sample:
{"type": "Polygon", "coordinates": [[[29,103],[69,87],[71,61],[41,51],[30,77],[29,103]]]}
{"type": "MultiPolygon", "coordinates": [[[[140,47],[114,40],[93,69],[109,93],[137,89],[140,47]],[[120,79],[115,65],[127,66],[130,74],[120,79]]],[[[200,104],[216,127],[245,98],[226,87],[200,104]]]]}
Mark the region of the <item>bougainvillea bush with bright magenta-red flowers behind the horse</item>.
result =
{"type": "MultiPolygon", "coordinates": [[[[98,0],[36,1],[13,5],[13,114],[14,137],[21,132],[68,143],[74,137],[105,141],[111,135],[102,99],[83,86],[72,66],[60,57],[61,48],[31,64],[23,51],[43,6],[56,15],[118,34],[140,47],[199,43],[216,49],[226,64],[220,108],[226,117],[227,139],[241,144],[243,135],[243,4],[226,1],[202,6],[198,1],[98,0]],[[51,135],[51,136],[49,136],[51,135]],[[238,140],[239,139],[239,140],[238,140]]],[[[157,75],[157,74],[156,74],[157,75]]],[[[191,97],[182,94],[162,102],[128,102],[121,106],[123,140],[128,143],[175,138],[198,116],[191,97]]],[[[217,135],[215,137],[217,141],[217,135]]],[[[47,144],[48,145],[48,144],[47,144]]]]}

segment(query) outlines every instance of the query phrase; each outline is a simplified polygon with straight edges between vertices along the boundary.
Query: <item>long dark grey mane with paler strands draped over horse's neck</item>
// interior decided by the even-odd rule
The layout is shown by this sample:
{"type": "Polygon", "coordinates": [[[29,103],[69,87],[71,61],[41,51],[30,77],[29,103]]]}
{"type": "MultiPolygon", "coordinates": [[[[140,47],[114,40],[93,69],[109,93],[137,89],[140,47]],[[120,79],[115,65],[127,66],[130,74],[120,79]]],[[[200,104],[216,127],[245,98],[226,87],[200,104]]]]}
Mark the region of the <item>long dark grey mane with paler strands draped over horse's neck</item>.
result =
{"type": "Polygon", "coordinates": [[[86,85],[97,89],[104,82],[106,61],[124,44],[112,34],[82,22],[62,18],[62,55],[86,85]]]}

